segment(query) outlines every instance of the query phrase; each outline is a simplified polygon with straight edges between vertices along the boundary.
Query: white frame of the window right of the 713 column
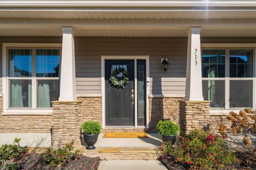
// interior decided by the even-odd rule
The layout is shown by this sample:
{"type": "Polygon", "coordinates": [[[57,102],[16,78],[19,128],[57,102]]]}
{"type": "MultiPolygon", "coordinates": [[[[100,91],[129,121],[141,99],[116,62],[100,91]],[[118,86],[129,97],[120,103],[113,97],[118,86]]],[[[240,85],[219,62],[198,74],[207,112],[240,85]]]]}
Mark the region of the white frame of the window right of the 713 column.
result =
{"type": "Polygon", "coordinates": [[[230,111],[238,112],[241,107],[230,108],[229,107],[229,82],[230,80],[252,80],[253,81],[253,94],[252,94],[252,109],[255,109],[255,75],[256,75],[256,56],[255,56],[255,43],[234,43],[234,44],[226,44],[226,43],[203,43],[201,44],[201,50],[204,49],[225,49],[225,55],[229,56],[230,49],[252,49],[253,50],[253,75],[252,78],[229,78],[229,57],[225,60],[225,78],[202,78],[202,80],[224,80],[225,81],[225,108],[214,108],[211,107],[211,113],[229,113],[230,111]]]}

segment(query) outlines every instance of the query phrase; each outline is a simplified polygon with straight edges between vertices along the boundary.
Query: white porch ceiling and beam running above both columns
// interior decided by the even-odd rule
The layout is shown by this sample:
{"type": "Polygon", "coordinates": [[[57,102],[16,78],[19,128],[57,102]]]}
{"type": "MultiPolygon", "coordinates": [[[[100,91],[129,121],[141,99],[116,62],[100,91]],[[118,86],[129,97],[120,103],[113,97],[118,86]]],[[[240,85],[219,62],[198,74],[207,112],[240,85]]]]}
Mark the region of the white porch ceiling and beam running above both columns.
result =
{"type": "Polygon", "coordinates": [[[0,36],[62,36],[61,27],[70,25],[75,36],[85,37],[186,37],[189,27],[202,27],[204,37],[256,36],[255,23],[256,8],[46,10],[0,5],[0,36]]]}

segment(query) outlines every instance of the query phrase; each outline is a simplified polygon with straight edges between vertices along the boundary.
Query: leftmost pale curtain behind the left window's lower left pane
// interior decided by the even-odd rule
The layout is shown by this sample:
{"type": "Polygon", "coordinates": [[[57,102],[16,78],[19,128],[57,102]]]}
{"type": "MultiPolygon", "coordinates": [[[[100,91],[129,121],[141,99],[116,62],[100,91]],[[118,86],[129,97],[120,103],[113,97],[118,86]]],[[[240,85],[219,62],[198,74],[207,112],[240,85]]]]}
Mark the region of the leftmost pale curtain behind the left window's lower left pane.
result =
{"type": "Polygon", "coordinates": [[[22,84],[13,82],[11,85],[11,107],[23,107],[22,84]]]}

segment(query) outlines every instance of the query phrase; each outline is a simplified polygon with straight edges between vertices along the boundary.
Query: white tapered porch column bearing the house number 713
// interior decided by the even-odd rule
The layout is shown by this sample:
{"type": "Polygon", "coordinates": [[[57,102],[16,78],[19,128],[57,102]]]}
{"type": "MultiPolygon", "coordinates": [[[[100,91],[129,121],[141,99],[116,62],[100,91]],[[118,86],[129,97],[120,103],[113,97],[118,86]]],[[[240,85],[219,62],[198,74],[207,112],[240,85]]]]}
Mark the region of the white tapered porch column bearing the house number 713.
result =
{"type": "Polygon", "coordinates": [[[201,28],[192,27],[188,30],[188,54],[186,72],[185,100],[203,101],[202,65],[201,65],[201,28]]]}

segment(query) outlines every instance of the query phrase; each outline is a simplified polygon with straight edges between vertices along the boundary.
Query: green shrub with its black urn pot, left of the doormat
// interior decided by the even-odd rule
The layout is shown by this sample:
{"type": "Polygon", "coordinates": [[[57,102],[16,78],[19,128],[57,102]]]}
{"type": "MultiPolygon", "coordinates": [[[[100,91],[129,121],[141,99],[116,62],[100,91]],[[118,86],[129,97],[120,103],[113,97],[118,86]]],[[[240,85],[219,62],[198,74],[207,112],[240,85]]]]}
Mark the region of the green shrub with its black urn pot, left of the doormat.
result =
{"type": "Polygon", "coordinates": [[[82,133],[84,137],[84,142],[87,144],[86,149],[95,149],[94,144],[98,140],[100,134],[101,125],[99,122],[87,121],[82,124],[82,133]]]}

